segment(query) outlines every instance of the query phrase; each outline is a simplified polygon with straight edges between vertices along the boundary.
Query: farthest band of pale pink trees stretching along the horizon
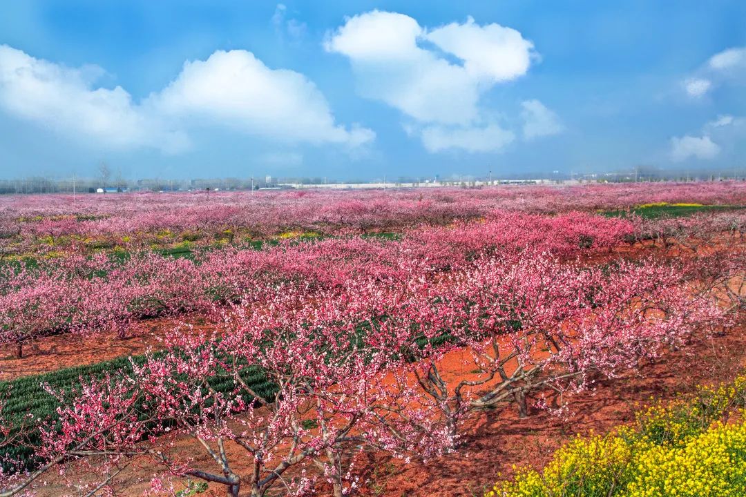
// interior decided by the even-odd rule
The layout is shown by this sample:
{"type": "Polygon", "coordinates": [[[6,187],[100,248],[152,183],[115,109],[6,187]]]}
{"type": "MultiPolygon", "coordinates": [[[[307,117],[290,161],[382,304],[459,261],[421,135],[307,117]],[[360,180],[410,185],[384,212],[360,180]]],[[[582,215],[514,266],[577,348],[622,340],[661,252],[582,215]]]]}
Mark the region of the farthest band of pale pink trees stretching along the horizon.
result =
{"type": "Polygon", "coordinates": [[[60,246],[210,243],[283,232],[356,234],[448,224],[496,209],[552,215],[662,202],[732,206],[743,205],[745,199],[743,182],[4,196],[0,254],[60,246]]]}

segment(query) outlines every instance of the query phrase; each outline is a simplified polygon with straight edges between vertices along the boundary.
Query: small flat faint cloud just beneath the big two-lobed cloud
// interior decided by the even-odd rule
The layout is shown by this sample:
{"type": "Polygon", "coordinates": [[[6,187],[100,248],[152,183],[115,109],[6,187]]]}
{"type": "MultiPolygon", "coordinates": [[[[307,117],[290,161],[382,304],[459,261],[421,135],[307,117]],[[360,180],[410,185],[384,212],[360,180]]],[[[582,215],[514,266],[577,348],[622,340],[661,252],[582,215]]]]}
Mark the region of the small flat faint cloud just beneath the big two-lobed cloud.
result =
{"type": "Polygon", "coordinates": [[[425,127],[421,132],[422,144],[429,152],[441,152],[460,148],[467,152],[496,152],[509,145],[515,139],[510,130],[504,130],[497,124],[485,127],[443,126],[425,127]]]}

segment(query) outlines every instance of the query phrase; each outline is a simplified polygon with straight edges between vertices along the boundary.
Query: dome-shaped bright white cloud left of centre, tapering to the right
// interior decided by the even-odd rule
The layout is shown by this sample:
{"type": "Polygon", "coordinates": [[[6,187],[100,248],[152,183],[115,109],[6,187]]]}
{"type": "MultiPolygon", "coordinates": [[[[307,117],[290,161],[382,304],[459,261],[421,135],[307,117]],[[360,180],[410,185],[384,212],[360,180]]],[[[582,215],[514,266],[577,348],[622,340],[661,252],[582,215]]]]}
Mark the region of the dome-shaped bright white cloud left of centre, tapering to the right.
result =
{"type": "Polygon", "coordinates": [[[232,127],[286,142],[362,145],[371,130],[334,122],[322,92],[298,72],[269,69],[249,51],[216,51],[184,63],[169,86],[148,98],[157,113],[232,127]]]}

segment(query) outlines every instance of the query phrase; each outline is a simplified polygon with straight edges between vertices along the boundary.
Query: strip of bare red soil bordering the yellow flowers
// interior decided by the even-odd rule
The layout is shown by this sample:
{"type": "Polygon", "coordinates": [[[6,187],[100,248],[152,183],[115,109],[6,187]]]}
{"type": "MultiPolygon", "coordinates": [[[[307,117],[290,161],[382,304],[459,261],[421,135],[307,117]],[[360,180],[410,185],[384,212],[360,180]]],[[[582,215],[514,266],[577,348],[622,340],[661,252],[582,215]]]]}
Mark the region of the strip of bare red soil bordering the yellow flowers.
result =
{"type": "MultiPolygon", "coordinates": [[[[567,420],[545,411],[521,420],[517,409],[485,411],[468,420],[463,446],[427,464],[404,465],[383,455],[369,454],[357,466],[366,467],[365,496],[453,497],[483,496],[495,481],[507,478],[513,465],[542,467],[552,452],[575,434],[606,432],[632,421],[639,405],[651,399],[673,399],[695,385],[732,379],[746,367],[746,326],[726,335],[698,338],[686,351],[673,352],[639,372],[598,383],[595,392],[570,399],[567,420]]],[[[452,376],[468,376],[460,361],[443,365],[452,376]]]]}

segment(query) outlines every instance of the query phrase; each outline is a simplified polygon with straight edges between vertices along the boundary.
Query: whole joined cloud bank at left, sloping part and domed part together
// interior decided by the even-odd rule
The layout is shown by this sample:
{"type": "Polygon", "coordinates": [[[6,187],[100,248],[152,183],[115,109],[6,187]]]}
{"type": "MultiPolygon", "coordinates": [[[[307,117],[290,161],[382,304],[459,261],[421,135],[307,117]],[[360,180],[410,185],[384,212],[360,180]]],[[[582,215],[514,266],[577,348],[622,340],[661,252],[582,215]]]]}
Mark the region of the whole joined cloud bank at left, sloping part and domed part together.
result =
{"type": "Polygon", "coordinates": [[[139,103],[121,86],[96,86],[101,74],[0,45],[0,109],[81,141],[166,153],[184,151],[189,130],[205,125],[281,142],[354,147],[374,139],[371,130],[336,124],[307,77],[269,69],[248,51],[186,62],[169,86],[139,103]]]}

